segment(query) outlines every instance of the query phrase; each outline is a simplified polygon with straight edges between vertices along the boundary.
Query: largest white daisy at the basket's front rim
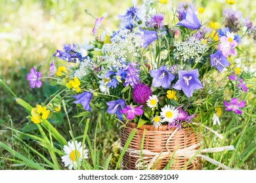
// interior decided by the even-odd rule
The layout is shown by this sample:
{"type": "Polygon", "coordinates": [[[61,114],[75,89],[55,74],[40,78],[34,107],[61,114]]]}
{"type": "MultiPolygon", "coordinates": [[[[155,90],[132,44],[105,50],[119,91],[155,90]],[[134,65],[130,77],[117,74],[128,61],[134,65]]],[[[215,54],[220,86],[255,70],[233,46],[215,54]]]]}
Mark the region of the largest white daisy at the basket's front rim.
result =
{"type": "Polygon", "coordinates": [[[163,122],[173,122],[179,114],[179,111],[175,109],[173,106],[165,105],[161,108],[161,117],[163,118],[163,122]]]}

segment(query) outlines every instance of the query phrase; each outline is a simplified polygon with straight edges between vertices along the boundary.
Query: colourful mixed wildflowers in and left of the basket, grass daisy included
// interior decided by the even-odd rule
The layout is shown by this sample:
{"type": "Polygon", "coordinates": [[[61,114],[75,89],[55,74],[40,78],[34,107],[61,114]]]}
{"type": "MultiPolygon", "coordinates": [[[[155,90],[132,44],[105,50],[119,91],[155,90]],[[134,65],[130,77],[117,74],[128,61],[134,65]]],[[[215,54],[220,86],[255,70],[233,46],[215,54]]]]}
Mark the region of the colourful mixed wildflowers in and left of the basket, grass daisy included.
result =
{"type": "MultiPolygon", "coordinates": [[[[192,3],[165,14],[159,9],[166,2],[145,1],[142,7],[133,2],[112,33],[105,31],[103,17],[96,18],[93,41],[56,50],[53,56],[66,64],[57,68],[52,61],[47,78],[59,90],[48,105],[31,108],[32,122],[51,118],[63,101],[77,105],[80,116],[101,110],[123,124],[167,124],[179,131],[193,123],[220,124],[223,114],[243,117],[249,71],[241,73],[236,61],[243,37],[255,40],[255,26],[234,10],[224,10],[222,24],[201,22],[203,8],[192,3]]],[[[42,85],[35,68],[27,80],[32,88],[42,85]]],[[[62,161],[70,168],[77,166],[75,156],[87,158],[87,150],[75,143],[64,146],[62,161]]]]}

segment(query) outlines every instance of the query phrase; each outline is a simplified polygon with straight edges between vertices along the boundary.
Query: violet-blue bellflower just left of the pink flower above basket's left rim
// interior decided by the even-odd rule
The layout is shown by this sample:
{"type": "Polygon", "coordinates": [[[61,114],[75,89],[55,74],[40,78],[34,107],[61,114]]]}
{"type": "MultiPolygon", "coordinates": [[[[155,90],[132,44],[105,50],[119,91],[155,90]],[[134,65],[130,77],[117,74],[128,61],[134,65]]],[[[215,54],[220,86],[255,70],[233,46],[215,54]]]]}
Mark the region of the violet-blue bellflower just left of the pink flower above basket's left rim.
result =
{"type": "Polygon", "coordinates": [[[125,107],[125,101],[123,99],[106,102],[106,105],[108,105],[108,109],[106,110],[108,114],[116,114],[116,117],[119,120],[123,120],[123,116],[120,111],[121,108],[125,107]]]}

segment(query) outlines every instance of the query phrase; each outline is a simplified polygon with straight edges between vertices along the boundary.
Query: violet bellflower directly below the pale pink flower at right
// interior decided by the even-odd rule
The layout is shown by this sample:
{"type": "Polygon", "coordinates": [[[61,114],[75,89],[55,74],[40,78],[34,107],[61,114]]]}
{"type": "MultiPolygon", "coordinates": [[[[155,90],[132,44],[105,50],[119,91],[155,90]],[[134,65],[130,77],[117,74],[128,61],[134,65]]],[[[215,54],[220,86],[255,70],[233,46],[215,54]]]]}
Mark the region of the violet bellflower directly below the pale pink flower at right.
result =
{"type": "Polygon", "coordinates": [[[228,59],[226,59],[222,52],[217,50],[215,54],[211,54],[211,66],[218,69],[219,72],[223,71],[224,67],[228,67],[230,65],[230,62],[228,59]]]}

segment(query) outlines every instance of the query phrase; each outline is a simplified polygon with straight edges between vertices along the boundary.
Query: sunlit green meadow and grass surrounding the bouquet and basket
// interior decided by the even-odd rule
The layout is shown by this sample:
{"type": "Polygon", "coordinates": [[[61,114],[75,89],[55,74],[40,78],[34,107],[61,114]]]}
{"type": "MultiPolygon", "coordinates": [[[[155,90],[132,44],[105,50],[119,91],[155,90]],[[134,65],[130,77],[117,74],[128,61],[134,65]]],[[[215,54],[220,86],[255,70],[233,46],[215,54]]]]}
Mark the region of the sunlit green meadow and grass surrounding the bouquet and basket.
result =
{"type": "MultiPolygon", "coordinates": [[[[139,4],[142,1],[138,2],[139,4]]],[[[167,5],[175,7],[179,1],[169,1],[167,5]]],[[[62,49],[63,44],[78,43],[93,39],[92,29],[95,18],[85,13],[89,10],[96,18],[104,16],[104,26],[109,32],[114,31],[118,24],[118,14],[123,14],[131,1],[88,1],[88,0],[0,0],[0,78],[30,105],[44,101],[56,88],[43,81],[41,88],[32,90],[26,75],[35,66],[42,75],[48,75],[49,63],[53,59],[56,49],[62,49]]],[[[224,8],[240,10],[244,15],[251,16],[256,24],[256,1],[236,1],[235,5],[228,5],[225,1],[196,1],[197,7],[205,7],[205,12],[200,14],[200,20],[219,21],[224,8]]],[[[166,7],[162,7],[165,9],[166,7]]],[[[220,22],[221,23],[221,22],[220,22]]],[[[209,24],[209,22],[206,22],[209,24]]],[[[245,44],[247,57],[242,69],[251,67],[255,69],[255,44],[245,44]]],[[[54,58],[56,60],[56,58],[54,58]]],[[[55,64],[64,63],[56,61],[55,64]]],[[[255,85],[255,80],[250,84],[255,85]]],[[[256,169],[256,122],[255,122],[255,88],[251,87],[250,105],[245,118],[238,121],[221,121],[221,125],[213,129],[222,133],[224,139],[216,139],[212,133],[203,130],[205,148],[215,146],[234,145],[233,152],[208,154],[210,158],[221,161],[234,169],[256,169]]],[[[69,108],[72,114],[75,108],[69,108]]],[[[37,134],[37,127],[26,118],[28,112],[18,105],[11,93],[0,84],[0,141],[7,144],[12,150],[23,156],[43,164],[43,160],[36,156],[32,150],[36,149],[41,154],[43,148],[36,141],[18,133],[37,134]],[[31,148],[32,147],[32,148],[31,148]]],[[[223,118],[224,119],[224,118],[223,118]]],[[[66,114],[59,112],[56,120],[52,122],[64,137],[69,139],[66,114]]],[[[72,128],[76,136],[82,135],[85,121],[71,118],[72,128]]],[[[208,126],[212,126],[209,119],[208,126]]],[[[102,114],[92,115],[89,121],[88,136],[91,139],[91,169],[114,169],[119,158],[118,148],[119,127],[113,116],[102,114]]],[[[60,161],[60,157],[59,157],[60,161]]],[[[16,158],[13,153],[0,148],[0,169],[31,169],[24,162],[16,158]]],[[[211,163],[203,162],[203,169],[218,169],[211,163]]]]}

